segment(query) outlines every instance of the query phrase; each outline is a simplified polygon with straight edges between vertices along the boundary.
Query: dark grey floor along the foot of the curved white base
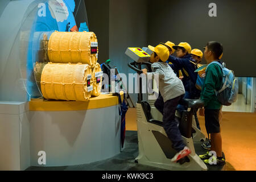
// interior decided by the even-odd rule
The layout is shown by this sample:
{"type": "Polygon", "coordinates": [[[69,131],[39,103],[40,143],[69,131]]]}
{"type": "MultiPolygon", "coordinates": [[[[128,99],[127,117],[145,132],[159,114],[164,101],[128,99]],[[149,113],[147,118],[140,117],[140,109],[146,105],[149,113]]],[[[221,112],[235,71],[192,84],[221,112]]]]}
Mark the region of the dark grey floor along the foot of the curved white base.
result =
{"type": "MultiPolygon", "coordinates": [[[[205,154],[200,143],[195,144],[197,154],[205,154]]],[[[126,131],[125,149],[113,158],[90,164],[64,167],[29,167],[27,171],[164,171],[161,168],[144,166],[134,163],[138,156],[137,131],[126,131]]],[[[208,166],[209,170],[221,170],[222,167],[208,166]]]]}

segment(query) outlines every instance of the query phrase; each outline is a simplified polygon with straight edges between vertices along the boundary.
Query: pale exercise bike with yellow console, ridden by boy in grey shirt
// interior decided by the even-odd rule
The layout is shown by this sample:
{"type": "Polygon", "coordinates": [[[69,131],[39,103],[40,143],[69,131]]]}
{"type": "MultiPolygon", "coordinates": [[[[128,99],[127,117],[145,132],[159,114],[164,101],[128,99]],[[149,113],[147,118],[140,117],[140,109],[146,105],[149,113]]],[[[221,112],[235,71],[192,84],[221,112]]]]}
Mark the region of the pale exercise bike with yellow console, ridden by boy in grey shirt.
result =
{"type": "MultiPolygon", "coordinates": [[[[146,65],[148,71],[151,72],[151,63],[148,62],[150,55],[146,50],[143,51],[141,48],[127,48],[125,53],[134,60],[128,66],[135,72],[141,74],[142,65],[146,65]]],[[[168,139],[164,131],[162,115],[160,112],[157,113],[155,107],[152,107],[147,101],[143,101],[142,78],[139,77],[139,93],[136,104],[139,155],[135,159],[135,163],[168,170],[221,170],[222,167],[207,166],[204,164],[203,160],[198,156],[206,152],[206,150],[201,148],[201,139],[195,141],[192,138],[192,117],[195,115],[197,109],[204,106],[204,102],[201,100],[182,99],[180,104],[188,107],[188,110],[183,112],[179,120],[179,129],[184,143],[191,149],[191,154],[180,159],[177,163],[172,163],[171,159],[176,154],[176,151],[172,148],[172,142],[168,139]]]]}

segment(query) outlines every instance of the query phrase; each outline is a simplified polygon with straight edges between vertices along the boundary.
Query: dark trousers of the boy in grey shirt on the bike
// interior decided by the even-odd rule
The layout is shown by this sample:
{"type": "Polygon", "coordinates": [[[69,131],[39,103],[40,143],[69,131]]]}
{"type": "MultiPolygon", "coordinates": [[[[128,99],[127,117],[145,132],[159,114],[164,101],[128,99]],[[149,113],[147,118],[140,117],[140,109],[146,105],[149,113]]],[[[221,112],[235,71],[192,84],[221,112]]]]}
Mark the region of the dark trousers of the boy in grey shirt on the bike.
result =
{"type": "Polygon", "coordinates": [[[166,131],[168,138],[172,142],[172,147],[177,151],[183,150],[185,144],[179,130],[179,121],[175,118],[175,111],[177,105],[184,95],[175,97],[166,102],[163,101],[163,97],[159,95],[158,99],[155,101],[155,107],[163,114],[163,127],[166,131]]]}

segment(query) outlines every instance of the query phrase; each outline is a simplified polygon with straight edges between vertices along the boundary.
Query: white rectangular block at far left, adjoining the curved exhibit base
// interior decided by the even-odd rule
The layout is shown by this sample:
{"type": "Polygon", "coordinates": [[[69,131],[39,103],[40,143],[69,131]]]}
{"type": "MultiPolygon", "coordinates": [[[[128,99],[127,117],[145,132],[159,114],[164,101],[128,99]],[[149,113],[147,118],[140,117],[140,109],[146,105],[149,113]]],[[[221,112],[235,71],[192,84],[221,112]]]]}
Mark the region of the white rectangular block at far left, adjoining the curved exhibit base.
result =
{"type": "Polygon", "coordinates": [[[0,102],[0,170],[30,167],[30,123],[26,102],[0,102]]]}

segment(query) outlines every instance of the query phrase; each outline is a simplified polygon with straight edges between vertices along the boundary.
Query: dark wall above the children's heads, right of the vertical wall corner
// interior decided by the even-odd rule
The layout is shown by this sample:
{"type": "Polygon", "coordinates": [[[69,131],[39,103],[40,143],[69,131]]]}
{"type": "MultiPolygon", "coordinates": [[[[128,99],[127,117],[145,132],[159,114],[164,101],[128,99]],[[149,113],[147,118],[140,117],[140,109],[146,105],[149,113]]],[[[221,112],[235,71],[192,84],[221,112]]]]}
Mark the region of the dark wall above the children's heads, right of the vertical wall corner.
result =
{"type": "Polygon", "coordinates": [[[148,5],[147,40],[152,46],[170,40],[203,51],[208,41],[215,40],[223,44],[223,60],[236,76],[256,77],[256,1],[150,0],[148,5]],[[212,2],[217,17],[208,15],[212,2]]]}

